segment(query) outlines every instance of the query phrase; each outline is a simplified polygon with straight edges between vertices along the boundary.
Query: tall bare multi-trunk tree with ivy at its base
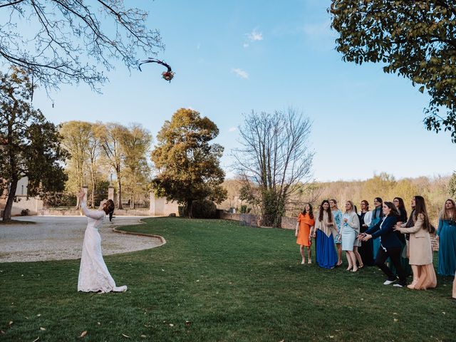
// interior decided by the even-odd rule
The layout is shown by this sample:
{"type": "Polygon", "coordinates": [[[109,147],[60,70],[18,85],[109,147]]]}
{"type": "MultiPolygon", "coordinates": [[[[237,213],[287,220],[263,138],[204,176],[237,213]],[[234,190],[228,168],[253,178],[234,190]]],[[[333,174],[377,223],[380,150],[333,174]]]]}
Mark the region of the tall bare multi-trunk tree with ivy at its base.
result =
{"type": "Polygon", "coordinates": [[[259,207],[262,224],[280,227],[291,196],[311,180],[310,133],[309,118],[294,109],[252,111],[239,127],[234,169],[244,183],[241,199],[259,207]]]}

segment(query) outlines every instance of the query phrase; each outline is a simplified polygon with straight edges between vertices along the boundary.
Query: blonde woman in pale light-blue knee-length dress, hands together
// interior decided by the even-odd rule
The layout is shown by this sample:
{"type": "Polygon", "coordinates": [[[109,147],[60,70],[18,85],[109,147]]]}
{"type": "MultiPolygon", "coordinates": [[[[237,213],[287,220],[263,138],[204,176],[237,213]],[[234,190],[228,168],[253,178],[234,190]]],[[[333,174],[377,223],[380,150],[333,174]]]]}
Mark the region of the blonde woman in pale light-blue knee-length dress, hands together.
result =
{"type": "MultiPolygon", "coordinates": [[[[348,267],[347,271],[356,272],[358,266],[356,266],[356,255],[353,252],[356,237],[359,234],[359,219],[356,214],[353,202],[347,201],[345,204],[345,213],[342,216],[341,224],[341,240],[342,250],[346,251],[348,267]]],[[[361,266],[361,265],[360,265],[361,266]]]]}

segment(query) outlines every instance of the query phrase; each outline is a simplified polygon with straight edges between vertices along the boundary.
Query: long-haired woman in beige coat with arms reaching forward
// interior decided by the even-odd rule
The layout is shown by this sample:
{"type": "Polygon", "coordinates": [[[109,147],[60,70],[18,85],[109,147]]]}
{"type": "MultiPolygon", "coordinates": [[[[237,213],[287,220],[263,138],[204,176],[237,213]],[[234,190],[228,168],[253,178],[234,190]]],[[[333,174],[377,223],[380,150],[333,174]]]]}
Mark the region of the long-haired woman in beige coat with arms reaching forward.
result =
{"type": "Polygon", "coordinates": [[[410,234],[410,265],[413,271],[413,282],[407,287],[416,290],[431,289],[437,286],[437,277],[432,264],[429,234],[432,228],[427,216],[425,199],[421,196],[413,197],[412,207],[415,207],[413,214],[415,225],[410,228],[405,228],[405,224],[395,227],[395,230],[403,234],[410,234]]]}

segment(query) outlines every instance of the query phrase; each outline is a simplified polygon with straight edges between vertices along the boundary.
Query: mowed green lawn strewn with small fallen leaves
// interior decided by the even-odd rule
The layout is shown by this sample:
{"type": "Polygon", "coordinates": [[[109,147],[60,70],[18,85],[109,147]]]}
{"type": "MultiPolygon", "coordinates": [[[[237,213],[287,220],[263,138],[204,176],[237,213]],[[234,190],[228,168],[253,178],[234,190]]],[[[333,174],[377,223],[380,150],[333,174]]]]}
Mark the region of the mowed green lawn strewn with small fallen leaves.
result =
{"type": "Polygon", "coordinates": [[[78,293],[79,260],[0,264],[0,341],[456,339],[449,277],[438,277],[434,290],[398,289],[383,286],[375,267],[301,265],[294,231],[145,222],[124,229],[159,234],[167,244],[105,257],[126,293],[78,293]]]}

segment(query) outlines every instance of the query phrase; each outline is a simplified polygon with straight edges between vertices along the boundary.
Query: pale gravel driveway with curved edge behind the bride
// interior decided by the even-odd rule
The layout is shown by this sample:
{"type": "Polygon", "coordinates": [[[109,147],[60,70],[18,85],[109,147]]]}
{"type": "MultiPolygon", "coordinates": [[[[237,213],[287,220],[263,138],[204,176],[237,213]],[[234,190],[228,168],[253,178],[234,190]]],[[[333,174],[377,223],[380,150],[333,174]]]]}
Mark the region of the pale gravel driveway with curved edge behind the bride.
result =
{"type": "MultiPolygon", "coordinates": [[[[140,224],[145,217],[106,218],[100,228],[103,255],[120,254],[161,246],[164,239],[113,232],[113,227],[140,224]]],[[[33,216],[15,220],[36,224],[0,225],[0,262],[81,258],[86,217],[33,216]]]]}

